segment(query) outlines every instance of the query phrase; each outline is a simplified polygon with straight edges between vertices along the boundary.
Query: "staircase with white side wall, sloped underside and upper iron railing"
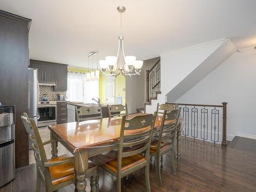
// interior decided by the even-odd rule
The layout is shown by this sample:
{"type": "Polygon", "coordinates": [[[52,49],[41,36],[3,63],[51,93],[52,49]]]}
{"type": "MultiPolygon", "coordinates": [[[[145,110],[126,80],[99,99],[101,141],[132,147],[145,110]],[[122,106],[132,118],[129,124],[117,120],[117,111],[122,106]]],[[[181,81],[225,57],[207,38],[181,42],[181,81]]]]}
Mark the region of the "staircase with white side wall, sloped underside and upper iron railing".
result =
{"type": "Polygon", "coordinates": [[[154,113],[158,102],[175,102],[234,52],[236,48],[230,39],[223,38],[160,55],[159,75],[158,62],[146,73],[145,113],[154,113]],[[151,81],[153,71],[156,81],[151,81]]]}

